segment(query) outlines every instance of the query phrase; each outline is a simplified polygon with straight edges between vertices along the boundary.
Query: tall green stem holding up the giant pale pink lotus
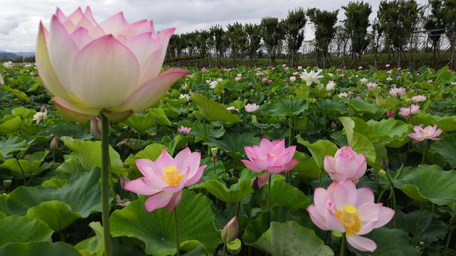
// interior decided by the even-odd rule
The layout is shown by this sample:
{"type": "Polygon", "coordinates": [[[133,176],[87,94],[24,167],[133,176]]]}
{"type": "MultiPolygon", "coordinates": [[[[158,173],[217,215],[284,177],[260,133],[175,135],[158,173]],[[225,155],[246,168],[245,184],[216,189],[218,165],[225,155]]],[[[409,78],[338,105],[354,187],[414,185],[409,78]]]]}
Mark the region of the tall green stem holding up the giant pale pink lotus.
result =
{"type": "Polygon", "coordinates": [[[109,121],[103,114],[100,114],[101,119],[101,204],[103,211],[101,218],[103,221],[103,240],[105,242],[105,255],[113,255],[111,247],[111,237],[109,228],[109,121]]]}

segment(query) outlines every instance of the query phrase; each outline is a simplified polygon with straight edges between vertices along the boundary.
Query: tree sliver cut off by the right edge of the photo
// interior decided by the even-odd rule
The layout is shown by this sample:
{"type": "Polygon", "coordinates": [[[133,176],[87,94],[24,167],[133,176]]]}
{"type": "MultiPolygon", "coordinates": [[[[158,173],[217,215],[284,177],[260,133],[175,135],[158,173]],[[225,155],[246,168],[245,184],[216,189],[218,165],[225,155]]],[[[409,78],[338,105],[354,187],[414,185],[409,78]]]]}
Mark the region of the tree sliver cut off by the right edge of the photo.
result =
{"type": "Polygon", "coordinates": [[[445,28],[451,45],[450,67],[456,69],[456,0],[445,0],[444,4],[445,28]]]}

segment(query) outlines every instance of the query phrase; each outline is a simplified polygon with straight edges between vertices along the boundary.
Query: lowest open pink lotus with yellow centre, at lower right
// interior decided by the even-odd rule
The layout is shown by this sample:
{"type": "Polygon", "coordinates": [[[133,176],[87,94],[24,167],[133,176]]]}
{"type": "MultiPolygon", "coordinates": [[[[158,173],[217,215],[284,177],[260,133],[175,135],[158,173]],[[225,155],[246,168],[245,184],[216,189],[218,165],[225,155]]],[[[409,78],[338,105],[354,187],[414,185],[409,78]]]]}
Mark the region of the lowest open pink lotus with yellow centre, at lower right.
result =
{"type": "Polygon", "coordinates": [[[314,205],[307,211],[318,228],[346,233],[347,242],[365,252],[373,252],[377,245],[361,235],[387,224],[394,215],[393,209],[374,203],[371,188],[356,189],[350,180],[334,181],[327,190],[316,188],[314,205]]]}

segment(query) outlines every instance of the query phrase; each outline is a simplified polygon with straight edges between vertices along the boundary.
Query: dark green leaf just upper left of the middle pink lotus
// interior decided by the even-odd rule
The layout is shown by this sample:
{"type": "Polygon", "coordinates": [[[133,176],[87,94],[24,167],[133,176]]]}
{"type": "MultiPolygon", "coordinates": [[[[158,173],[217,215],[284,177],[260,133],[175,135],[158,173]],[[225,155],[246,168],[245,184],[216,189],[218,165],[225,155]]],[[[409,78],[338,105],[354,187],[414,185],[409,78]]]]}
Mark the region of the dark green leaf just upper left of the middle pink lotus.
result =
{"type": "Polygon", "coordinates": [[[233,159],[242,159],[246,154],[244,146],[258,145],[260,142],[259,137],[255,137],[254,134],[244,133],[226,134],[222,139],[208,138],[206,140],[207,145],[211,147],[217,147],[223,149],[225,153],[231,156],[233,159]]]}

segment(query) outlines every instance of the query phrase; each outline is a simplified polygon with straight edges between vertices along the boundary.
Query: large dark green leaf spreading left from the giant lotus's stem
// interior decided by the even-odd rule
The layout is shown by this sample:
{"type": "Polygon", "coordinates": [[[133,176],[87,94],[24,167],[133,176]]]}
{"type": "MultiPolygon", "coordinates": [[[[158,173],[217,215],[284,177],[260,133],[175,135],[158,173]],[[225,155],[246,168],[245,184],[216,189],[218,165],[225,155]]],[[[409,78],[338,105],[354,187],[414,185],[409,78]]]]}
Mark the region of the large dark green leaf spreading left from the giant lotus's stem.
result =
{"type": "Polygon", "coordinates": [[[9,194],[0,195],[0,210],[7,215],[25,215],[27,210],[46,201],[67,203],[74,213],[86,218],[93,211],[101,211],[100,169],[74,175],[61,188],[20,186],[9,194]]]}

